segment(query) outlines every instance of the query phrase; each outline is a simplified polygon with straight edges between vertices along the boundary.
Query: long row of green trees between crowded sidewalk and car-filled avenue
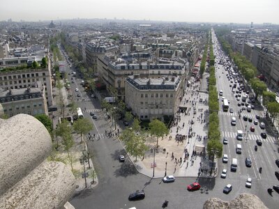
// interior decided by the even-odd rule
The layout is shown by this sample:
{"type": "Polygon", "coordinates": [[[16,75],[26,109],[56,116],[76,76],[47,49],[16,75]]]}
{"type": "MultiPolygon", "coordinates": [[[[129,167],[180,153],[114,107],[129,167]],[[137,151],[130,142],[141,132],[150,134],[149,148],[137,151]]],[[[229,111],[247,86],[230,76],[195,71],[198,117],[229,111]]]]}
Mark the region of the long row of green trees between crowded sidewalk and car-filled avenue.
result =
{"type": "Polygon", "coordinates": [[[210,47],[209,47],[209,57],[210,65],[209,68],[209,129],[208,129],[208,139],[206,150],[210,157],[216,156],[221,157],[223,153],[223,144],[220,142],[220,130],[219,130],[219,101],[218,101],[218,91],[216,88],[216,77],[215,77],[215,57],[213,55],[213,45],[212,36],[210,33],[210,47]]]}

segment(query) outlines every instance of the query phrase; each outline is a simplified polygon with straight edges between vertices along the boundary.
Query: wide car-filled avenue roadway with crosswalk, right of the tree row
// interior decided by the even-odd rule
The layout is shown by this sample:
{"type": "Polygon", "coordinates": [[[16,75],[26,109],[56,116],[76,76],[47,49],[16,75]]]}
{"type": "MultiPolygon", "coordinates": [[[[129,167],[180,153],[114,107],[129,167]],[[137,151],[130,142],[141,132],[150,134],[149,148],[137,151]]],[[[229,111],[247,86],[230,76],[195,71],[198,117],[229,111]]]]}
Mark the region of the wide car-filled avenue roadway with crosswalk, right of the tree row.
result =
{"type": "MultiPolygon", "coordinates": [[[[255,107],[249,113],[247,110],[241,112],[241,118],[237,115],[237,112],[243,107],[238,107],[235,98],[235,93],[232,93],[231,80],[227,79],[227,71],[223,65],[217,65],[216,75],[217,77],[217,88],[218,91],[223,90],[223,97],[230,101],[229,107],[234,109],[234,113],[230,114],[229,111],[223,112],[220,96],[220,130],[222,137],[227,137],[228,144],[223,146],[223,153],[227,154],[229,157],[228,163],[223,163],[222,159],[219,160],[219,171],[227,169],[227,178],[223,180],[226,183],[231,183],[234,188],[239,189],[239,192],[248,192],[251,194],[256,194],[269,208],[277,208],[279,203],[279,194],[273,194],[271,197],[266,189],[272,187],[273,185],[278,185],[278,180],[274,175],[275,171],[278,171],[278,167],[275,164],[275,160],[278,159],[277,145],[274,144],[274,136],[272,135],[269,127],[267,130],[262,130],[258,125],[254,125],[255,115],[259,115],[259,123],[266,120],[264,119],[262,107],[255,107]],[[243,116],[246,115],[252,118],[252,123],[243,120],[243,116]],[[236,126],[231,125],[232,117],[236,117],[236,126]],[[250,126],[255,127],[255,132],[250,131],[250,126]],[[242,141],[236,139],[237,130],[243,130],[246,135],[242,141]],[[267,139],[262,139],[260,133],[266,132],[267,139]],[[248,134],[247,134],[248,133],[248,134]],[[256,139],[262,140],[262,146],[258,146],[257,151],[255,151],[256,139]],[[236,144],[241,144],[242,153],[236,154],[236,144]],[[235,157],[238,160],[238,168],[236,172],[230,171],[230,164],[232,158],[235,157]],[[245,159],[250,157],[252,160],[252,167],[246,167],[245,159]],[[262,173],[259,173],[259,167],[262,167],[262,173]],[[248,189],[245,187],[247,178],[252,178],[252,188],[248,189]]],[[[219,177],[220,178],[220,177],[219,177]]]]}

